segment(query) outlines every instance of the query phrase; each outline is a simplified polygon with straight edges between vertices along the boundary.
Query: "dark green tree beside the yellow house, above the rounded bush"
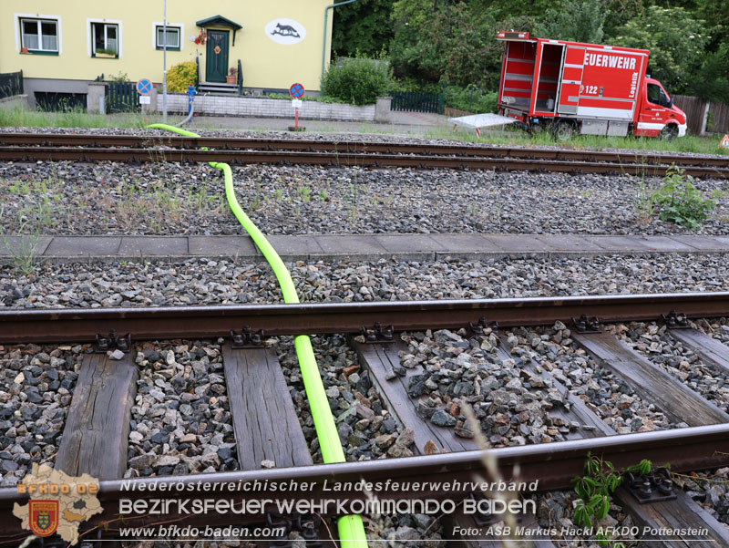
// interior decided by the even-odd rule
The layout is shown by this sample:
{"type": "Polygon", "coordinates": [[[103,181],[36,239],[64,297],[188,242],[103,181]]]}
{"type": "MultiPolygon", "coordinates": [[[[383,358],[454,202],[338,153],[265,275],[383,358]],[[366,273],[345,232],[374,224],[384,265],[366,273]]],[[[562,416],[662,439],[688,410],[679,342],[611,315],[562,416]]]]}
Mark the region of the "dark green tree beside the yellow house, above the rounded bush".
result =
{"type": "Polygon", "coordinates": [[[386,49],[395,34],[390,22],[394,1],[358,0],[334,7],[332,49],[336,55],[374,56],[386,49]]]}

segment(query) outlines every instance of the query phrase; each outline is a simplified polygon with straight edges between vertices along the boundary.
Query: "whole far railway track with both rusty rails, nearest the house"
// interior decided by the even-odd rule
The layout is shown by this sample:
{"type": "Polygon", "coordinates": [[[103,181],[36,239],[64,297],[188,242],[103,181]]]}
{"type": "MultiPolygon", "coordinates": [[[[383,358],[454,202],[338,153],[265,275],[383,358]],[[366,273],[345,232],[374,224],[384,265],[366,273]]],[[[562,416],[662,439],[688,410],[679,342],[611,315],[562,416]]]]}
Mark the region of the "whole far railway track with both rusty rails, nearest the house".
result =
{"type": "Polygon", "coordinates": [[[729,178],[729,162],[707,156],[322,140],[0,133],[0,159],[225,161],[655,176],[664,175],[674,164],[694,177],[729,178]]]}

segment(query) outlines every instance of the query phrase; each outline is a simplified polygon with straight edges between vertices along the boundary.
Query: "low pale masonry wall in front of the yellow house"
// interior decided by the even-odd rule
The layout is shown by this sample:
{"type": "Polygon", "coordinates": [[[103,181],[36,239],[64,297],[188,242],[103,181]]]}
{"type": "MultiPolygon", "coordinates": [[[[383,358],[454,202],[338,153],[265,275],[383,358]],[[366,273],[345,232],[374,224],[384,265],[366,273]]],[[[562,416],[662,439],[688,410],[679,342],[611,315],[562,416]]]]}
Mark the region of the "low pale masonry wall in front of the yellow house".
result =
{"type": "MultiPolygon", "coordinates": [[[[157,109],[161,111],[161,98],[157,100],[157,109]]],[[[188,96],[181,93],[169,93],[167,96],[168,112],[187,112],[188,96]]],[[[382,110],[382,109],[381,109],[382,110]]],[[[389,112],[389,109],[387,109],[389,112]]],[[[209,116],[250,116],[255,118],[290,118],[293,119],[293,107],[287,99],[239,97],[224,95],[200,95],[195,98],[195,112],[209,116]]],[[[380,114],[378,112],[378,114],[380,114]]],[[[331,119],[347,121],[374,121],[375,105],[355,107],[341,103],[320,103],[303,101],[299,109],[300,119],[331,119]]],[[[378,116],[380,118],[380,116],[378,116]]]]}

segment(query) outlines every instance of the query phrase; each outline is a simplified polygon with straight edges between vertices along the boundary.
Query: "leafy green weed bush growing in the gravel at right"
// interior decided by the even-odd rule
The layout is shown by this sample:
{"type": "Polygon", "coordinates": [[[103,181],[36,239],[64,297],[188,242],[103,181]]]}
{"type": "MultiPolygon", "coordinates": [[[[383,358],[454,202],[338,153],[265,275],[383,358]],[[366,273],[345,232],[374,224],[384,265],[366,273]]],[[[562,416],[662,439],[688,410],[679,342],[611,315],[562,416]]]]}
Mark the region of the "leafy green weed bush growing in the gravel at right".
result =
{"type": "Polygon", "coordinates": [[[683,170],[675,166],[666,171],[663,184],[653,197],[661,208],[659,217],[663,221],[692,229],[699,228],[716,205],[714,200],[703,198],[701,192],[696,190],[691,175],[684,175],[683,170]]]}

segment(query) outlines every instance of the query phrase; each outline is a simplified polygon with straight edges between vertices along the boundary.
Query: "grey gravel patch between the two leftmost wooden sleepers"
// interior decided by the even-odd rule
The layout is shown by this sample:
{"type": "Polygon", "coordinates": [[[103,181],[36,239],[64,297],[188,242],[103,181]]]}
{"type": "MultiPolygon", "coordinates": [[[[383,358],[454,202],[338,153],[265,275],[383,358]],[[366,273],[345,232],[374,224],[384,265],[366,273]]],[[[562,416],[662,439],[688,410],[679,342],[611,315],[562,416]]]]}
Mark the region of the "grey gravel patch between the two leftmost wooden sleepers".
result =
{"type": "Polygon", "coordinates": [[[221,342],[144,343],[127,478],[238,470],[221,342]]]}

